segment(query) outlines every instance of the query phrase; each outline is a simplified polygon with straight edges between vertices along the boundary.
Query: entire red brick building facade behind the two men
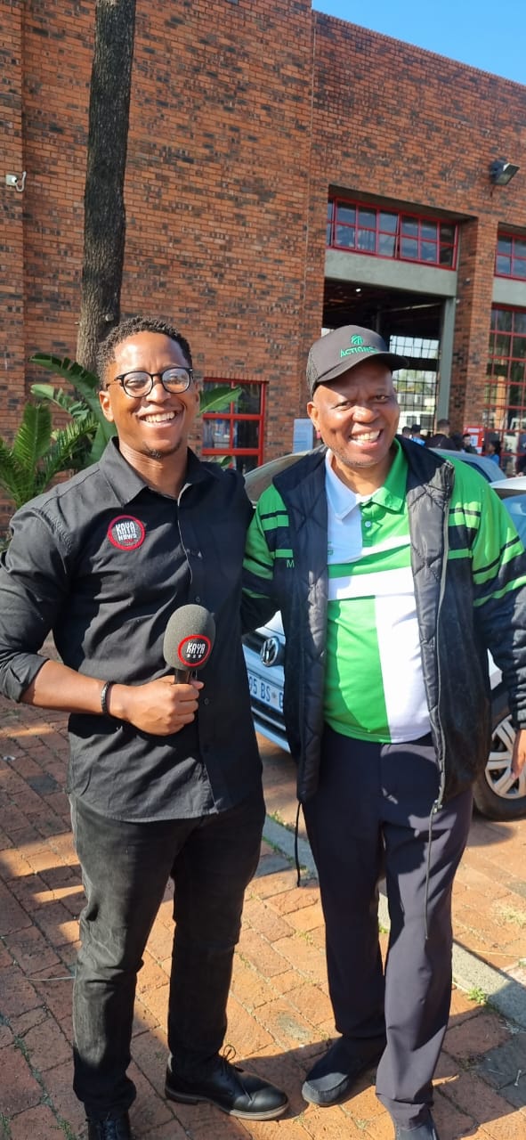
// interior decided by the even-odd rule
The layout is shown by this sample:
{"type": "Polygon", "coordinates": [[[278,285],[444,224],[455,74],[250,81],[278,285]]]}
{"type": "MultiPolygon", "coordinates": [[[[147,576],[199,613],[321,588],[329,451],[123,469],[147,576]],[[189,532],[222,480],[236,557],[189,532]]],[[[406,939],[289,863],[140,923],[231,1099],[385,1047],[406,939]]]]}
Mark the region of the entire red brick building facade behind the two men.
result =
{"type": "MultiPolygon", "coordinates": [[[[0,0],[6,437],[42,378],[31,353],[75,352],[93,8],[0,0]],[[19,194],[5,173],[23,170],[19,194]]],[[[526,230],[526,169],[493,190],[487,169],[520,161],[525,119],[526,88],[310,2],[138,0],[123,315],[174,318],[202,375],[265,381],[270,458],[304,414],[329,187],[454,211],[461,424],[482,407],[498,225],[526,230]]]]}

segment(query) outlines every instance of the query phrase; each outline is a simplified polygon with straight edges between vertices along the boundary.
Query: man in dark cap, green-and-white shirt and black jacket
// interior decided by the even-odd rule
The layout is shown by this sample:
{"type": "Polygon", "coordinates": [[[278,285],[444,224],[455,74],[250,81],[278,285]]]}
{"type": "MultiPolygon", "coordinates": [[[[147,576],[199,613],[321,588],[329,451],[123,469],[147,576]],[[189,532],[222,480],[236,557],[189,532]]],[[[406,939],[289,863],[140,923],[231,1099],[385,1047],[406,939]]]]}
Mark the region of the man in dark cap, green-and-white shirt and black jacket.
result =
{"type": "Polygon", "coordinates": [[[338,1104],[378,1062],[397,1140],[437,1140],[451,891],[490,746],[487,649],[519,730],[517,774],[526,756],[526,555],[476,471],[396,434],[404,363],[368,328],[313,344],[307,412],[324,446],[261,497],[244,604],[247,626],[282,612],[285,718],[327,927],[339,1036],[303,1096],[338,1104]]]}

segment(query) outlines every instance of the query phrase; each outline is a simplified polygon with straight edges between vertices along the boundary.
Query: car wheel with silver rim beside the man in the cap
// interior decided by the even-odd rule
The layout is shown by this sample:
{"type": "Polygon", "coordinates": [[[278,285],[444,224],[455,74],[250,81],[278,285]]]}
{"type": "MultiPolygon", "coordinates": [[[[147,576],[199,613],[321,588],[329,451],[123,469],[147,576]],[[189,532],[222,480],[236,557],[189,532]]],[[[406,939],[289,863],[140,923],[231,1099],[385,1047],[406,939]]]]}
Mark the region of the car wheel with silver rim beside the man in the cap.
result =
{"type": "Polygon", "coordinates": [[[515,728],[501,686],[493,693],[493,735],[484,772],[475,781],[475,805],[487,820],[521,820],[526,816],[526,767],[511,773],[515,728]]]}

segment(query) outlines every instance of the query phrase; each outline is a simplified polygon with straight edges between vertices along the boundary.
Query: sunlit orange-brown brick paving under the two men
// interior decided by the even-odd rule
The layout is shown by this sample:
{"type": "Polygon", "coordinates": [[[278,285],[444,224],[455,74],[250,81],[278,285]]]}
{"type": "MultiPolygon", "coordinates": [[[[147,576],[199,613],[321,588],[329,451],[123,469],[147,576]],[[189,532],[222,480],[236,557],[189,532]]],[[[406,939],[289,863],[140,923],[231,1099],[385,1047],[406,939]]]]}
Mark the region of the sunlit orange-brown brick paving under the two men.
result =
{"type": "MultiPolygon", "coordinates": [[[[295,819],[288,757],[262,747],[269,812],[295,819]]],[[[82,906],[64,777],[65,718],[0,700],[0,1140],[82,1140],[71,1089],[72,968],[82,906]]],[[[475,820],[455,889],[458,940],[526,980],[526,823],[475,820]],[[521,956],[523,955],[523,956],[521,956]]],[[[228,1040],[237,1058],[286,1088],[281,1121],[250,1124],[211,1107],[169,1105],[162,1086],[171,953],[166,893],[139,977],[132,1075],[137,1140],[391,1140],[373,1074],[334,1109],[299,1088],[332,1034],[315,881],[296,887],[287,860],[262,846],[236,954],[228,1040]]],[[[526,1033],[453,990],[436,1077],[442,1140],[526,1138],[526,1033]]]]}

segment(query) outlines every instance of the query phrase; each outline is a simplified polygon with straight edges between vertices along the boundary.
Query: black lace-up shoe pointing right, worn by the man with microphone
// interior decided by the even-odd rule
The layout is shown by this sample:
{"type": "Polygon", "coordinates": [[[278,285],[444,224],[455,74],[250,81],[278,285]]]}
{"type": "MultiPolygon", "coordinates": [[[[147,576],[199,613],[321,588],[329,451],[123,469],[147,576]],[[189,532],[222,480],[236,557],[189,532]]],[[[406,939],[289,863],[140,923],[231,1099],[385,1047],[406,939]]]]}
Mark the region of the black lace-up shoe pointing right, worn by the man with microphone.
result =
{"type": "Polygon", "coordinates": [[[281,1116],[288,1100],[281,1089],[253,1073],[245,1073],[224,1057],[215,1057],[191,1080],[166,1069],[165,1094],[169,1100],[197,1105],[205,1100],[229,1116],[249,1121],[273,1121],[281,1116]]]}

